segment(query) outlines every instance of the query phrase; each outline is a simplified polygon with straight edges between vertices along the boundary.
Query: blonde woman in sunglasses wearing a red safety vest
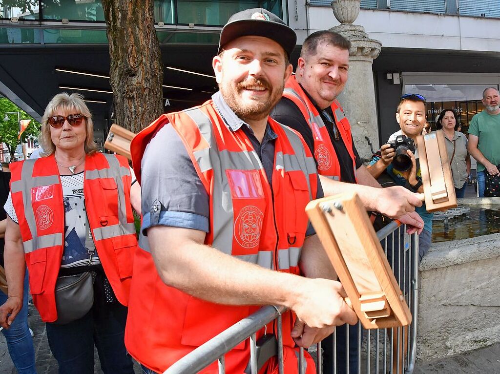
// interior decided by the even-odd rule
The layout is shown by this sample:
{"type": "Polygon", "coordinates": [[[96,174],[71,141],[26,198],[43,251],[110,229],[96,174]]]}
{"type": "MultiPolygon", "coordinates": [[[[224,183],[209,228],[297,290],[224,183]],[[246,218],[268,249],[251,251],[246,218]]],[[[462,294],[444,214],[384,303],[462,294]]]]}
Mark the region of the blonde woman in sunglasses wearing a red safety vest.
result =
{"type": "Polygon", "coordinates": [[[42,157],[10,167],[9,297],[0,307],[0,324],[8,328],[21,309],[27,266],[59,373],[93,373],[95,344],[104,373],[133,374],[124,345],[137,244],[133,170],[124,157],[96,151],[92,116],[79,94],[63,92],[50,100],[41,146],[42,157]]]}

